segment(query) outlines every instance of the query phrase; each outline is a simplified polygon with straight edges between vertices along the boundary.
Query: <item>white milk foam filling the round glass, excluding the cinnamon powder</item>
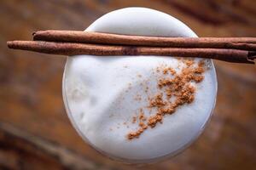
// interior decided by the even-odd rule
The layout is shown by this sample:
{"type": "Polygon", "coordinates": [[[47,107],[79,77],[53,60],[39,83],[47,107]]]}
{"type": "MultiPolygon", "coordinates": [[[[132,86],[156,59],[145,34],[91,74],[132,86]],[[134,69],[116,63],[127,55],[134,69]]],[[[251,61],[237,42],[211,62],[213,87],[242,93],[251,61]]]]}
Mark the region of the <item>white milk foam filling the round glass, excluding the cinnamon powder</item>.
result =
{"type": "MultiPolygon", "coordinates": [[[[86,31],[196,37],[181,21],[148,8],[113,11],[96,20],[86,31]]],[[[148,94],[141,85],[147,84],[149,93],[154,94],[159,90],[154,68],[164,64],[178,72],[183,64],[175,58],[156,56],[69,57],[63,77],[68,116],[83,139],[113,158],[147,162],[173,155],[197,138],[215,105],[215,70],[211,60],[206,62],[204,81],[194,84],[195,101],[165,116],[164,123],[149,128],[139,139],[128,140],[125,135],[137,129],[137,124],[131,123],[132,116],[148,105],[148,94]],[[135,99],[137,94],[142,100],[135,99]]],[[[145,114],[150,115],[149,111],[145,114]]]]}

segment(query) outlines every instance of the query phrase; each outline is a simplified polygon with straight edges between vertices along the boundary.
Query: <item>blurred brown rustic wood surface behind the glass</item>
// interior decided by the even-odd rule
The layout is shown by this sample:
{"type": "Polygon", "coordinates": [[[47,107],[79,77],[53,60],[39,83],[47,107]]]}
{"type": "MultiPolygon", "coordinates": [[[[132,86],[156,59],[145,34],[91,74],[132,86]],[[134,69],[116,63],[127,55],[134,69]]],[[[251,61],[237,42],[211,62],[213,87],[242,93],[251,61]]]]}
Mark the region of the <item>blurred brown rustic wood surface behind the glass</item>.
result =
{"type": "Polygon", "coordinates": [[[256,37],[254,0],[2,0],[0,3],[0,169],[255,169],[256,67],[215,62],[218,99],[211,122],[182,154],[127,166],[79,137],[61,96],[65,57],[9,50],[32,31],[84,30],[117,8],[159,9],[200,37],[256,37]]]}

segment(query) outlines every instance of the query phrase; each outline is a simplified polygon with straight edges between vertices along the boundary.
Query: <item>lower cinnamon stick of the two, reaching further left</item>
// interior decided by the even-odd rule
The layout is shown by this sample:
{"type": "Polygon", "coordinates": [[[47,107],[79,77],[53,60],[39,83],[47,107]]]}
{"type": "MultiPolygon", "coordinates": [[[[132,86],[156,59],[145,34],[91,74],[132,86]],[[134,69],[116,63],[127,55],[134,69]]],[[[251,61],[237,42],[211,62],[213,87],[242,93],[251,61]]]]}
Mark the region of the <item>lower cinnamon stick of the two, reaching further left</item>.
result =
{"type": "Polygon", "coordinates": [[[34,51],[44,54],[60,55],[161,55],[218,59],[234,63],[254,64],[255,51],[219,48],[166,48],[166,47],[136,47],[120,45],[101,45],[77,42],[42,42],[13,41],[7,42],[9,48],[34,51]]]}

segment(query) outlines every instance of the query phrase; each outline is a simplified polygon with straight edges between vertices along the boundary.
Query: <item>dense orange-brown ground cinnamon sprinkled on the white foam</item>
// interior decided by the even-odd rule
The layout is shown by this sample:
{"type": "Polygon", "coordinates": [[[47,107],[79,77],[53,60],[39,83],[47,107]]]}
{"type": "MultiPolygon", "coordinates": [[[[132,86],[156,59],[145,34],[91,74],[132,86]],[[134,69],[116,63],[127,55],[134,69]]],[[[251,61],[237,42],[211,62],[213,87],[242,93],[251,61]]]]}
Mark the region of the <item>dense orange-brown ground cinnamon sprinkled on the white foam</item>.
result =
{"type": "MultiPolygon", "coordinates": [[[[148,108],[155,108],[154,115],[146,118],[143,110],[140,111],[138,129],[135,132],[127,134],[127,139],[139,138],[139,136],[148,129],[162,123],[164,116],[173,114],[179,106],[190,104],[195,99],[195,87],[190,83],[199,83],[203,81],[205,71],[205,62],[201,60],[195,65],[194,59],[181,59],[186,66],[177,74],[171,67],[157,67],[156,72],[162,73],[165,77],[158,80],[160,93],[148,98],[148,108]],[[170,73],[172,77],[166,77],[170,73]],[[175,98],[171,101],[171,98],[175,98]]],[[[148,91],[148,90],[147,90],[148,91]]],[[[133,117],[132,122],[137,122],[133,117]]]]}

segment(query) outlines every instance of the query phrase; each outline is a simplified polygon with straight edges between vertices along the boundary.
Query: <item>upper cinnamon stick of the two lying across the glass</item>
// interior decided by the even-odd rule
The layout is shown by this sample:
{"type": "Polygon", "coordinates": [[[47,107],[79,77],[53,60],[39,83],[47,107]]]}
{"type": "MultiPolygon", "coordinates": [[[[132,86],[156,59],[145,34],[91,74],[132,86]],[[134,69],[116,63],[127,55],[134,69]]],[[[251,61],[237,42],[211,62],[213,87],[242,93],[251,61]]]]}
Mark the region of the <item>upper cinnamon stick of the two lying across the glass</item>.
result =
{"type": "Polygon", "coordinates": [[[169,48],[234,48],[256,50],[256,37],[143,37],[91,31],[36,31],[36,41],[86,42],[169,48]]]}

